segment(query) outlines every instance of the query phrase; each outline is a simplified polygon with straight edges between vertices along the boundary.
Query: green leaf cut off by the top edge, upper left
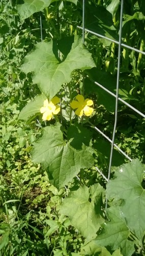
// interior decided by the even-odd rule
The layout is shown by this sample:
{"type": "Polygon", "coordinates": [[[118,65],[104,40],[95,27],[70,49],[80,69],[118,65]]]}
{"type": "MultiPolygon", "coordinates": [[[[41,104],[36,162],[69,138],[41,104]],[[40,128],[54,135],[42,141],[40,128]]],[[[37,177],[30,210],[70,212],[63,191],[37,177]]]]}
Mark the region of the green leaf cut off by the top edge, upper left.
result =
{"type": "MultiPolygon", "coordinates": [[[[18,13],[22,20],[30,17],[33,13],[42,11],[48,7],[51,3],[59,0],[23,0],[23,4],[17,5],[18,13]]],[[[77,4],[77,0],[67,0],[74,4],[77,4]]]]}

